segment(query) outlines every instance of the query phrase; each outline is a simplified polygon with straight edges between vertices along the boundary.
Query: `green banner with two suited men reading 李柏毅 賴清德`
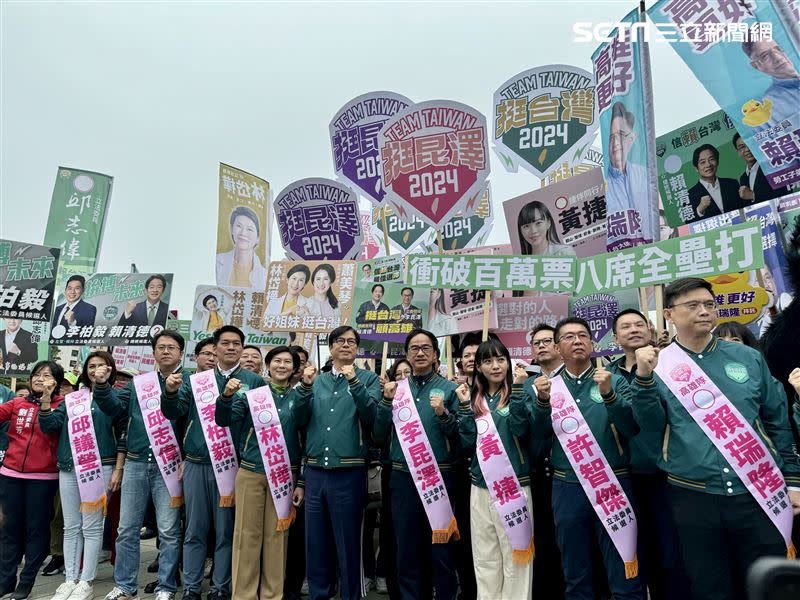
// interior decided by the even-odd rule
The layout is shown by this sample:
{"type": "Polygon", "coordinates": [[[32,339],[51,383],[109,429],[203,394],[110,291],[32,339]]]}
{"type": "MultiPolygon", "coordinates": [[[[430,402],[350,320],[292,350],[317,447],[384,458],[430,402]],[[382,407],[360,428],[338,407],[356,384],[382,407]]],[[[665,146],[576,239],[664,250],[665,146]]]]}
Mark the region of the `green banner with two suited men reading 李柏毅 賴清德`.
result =
{"type": "Polygon", "coordinates": [[[149,346],[169,316],[171,273],[95,273],[59,292],[50,344],[149,346]],[[72,314],[70,314],[72,313],[72,314]]]}

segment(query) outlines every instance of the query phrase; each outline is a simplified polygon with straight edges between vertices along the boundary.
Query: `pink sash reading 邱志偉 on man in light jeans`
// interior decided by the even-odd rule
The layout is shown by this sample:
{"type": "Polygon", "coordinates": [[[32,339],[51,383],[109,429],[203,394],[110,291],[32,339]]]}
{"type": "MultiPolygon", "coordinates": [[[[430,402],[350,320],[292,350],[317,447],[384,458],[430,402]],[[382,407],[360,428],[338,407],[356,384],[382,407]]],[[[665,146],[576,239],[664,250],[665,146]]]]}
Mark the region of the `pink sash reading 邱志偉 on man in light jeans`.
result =
{"type": "Polygon", "coordinates": [[[161,412],[161,385],[158,383],[158,373],[150,371],[137,375],[133,378],[133,385],[139,399],[147,439],[150,440],[150,447],[156,457],[161,477],[164,478],[169,495],[172,496],[170,506],[180,506],[183,504],[183,484],[178,474],[182,462],[181,452],[172,425],[161,412]]]}

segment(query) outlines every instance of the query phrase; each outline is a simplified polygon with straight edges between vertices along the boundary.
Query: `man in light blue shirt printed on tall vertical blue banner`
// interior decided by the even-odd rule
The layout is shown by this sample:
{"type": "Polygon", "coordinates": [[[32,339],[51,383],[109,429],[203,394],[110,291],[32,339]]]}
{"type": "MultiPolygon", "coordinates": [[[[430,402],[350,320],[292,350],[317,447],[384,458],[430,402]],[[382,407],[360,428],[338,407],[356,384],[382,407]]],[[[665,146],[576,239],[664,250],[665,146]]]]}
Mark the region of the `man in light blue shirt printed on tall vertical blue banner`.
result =
{"type": "MultiPolygon", "coordinates": [[[[628,231],[625,238],[639,240],[648,244],[655,238],[658,220],[649,208],[650,183],[647,169],[628,160],[636,141],[634,125],[636,117],[625,105],[617,101],[611,107],[611,126],[608,135],[609,165],[606,170],[608,189],[606,190],[607,213],[625,218],[626,223],[636,220],[641,223],[639,231],[628,231]],[[634,213],[631,215],[630,213],[634,213]]],[[[609,234],[609,240],[612,235],[609,234]]]]}

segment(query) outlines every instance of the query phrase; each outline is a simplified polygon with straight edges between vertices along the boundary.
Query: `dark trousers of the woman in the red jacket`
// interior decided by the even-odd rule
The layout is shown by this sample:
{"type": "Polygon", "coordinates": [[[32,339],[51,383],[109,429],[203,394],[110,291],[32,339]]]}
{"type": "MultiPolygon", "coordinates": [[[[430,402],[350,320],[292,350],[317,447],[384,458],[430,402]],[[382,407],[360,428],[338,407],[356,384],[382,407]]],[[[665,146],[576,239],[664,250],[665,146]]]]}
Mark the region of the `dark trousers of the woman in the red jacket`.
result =
{"type": "Polygon", "coordinates": [[[20,479],[0,475],[3,526],[0,527],[0,588],[12,587],[25,556],[19,585],[33,586],[50,550],[50,521],[57,479],[20,479]]]}

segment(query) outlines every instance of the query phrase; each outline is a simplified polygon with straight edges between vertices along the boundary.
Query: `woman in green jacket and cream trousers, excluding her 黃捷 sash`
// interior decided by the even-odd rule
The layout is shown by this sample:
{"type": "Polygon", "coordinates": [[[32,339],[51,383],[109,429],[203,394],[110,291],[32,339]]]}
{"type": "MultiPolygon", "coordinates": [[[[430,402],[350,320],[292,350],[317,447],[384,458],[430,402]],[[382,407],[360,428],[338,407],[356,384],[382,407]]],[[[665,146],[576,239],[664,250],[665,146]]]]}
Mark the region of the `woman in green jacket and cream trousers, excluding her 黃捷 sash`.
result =
{"type": "MultiPolygon", "coordinates": [[[[522,389],[528,374],[519,365],[512,376],[511,356],[498,340],[487,340],[478,346],[474,369],[471,388],[461,384],[456,389],[461,446],[475,450],[478,439],[475,416],[491,413],[500,443],[525,494],[528,516],[532,519],[526,444],[531,428],[531,413],[525,404],[522,389]]],[[[525,564],[516,564],[513,561],[513,548],[503,528],[500,513],[489,495],[477,455],[473,455],[470,474],[470,531],[478,598],[528,598],[531,595],[533,562],[529,560],[525,564]]]]}

